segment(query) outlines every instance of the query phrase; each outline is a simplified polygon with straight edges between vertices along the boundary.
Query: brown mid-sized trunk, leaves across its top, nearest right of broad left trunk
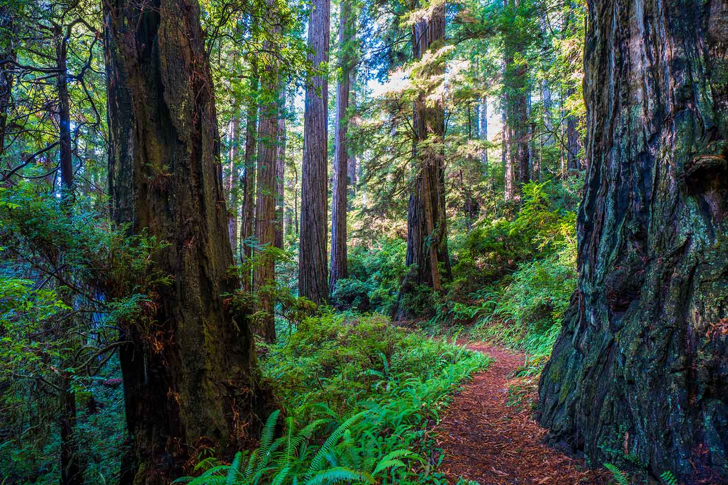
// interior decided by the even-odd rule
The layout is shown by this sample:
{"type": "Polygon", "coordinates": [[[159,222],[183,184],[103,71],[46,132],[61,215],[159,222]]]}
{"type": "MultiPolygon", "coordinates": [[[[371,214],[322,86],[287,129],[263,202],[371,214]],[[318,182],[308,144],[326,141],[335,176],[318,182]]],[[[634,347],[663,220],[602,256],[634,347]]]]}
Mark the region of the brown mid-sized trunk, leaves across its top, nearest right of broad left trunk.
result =
{"type": "MultiPolygon", "coordinates": [[[[280,20],[276,18],[276,9],[272,0],[268,2],[266,25],[273,32],[273,35],[280,35],[280,20]]],[[[279,46],[273,41],[266,40],[263,44],[263,52],[277,52],[279,46]]],[[[274,306],[274,285],[275,285],[275,257],[269,251],[275,245],[276,233],[276,199],[278,184],[276,170],[278,164],[280,134],[278,132],[278,120],[282,112],[281,107],[285,106],[279,99],[281,91],[280,76],[278,73],[277,57],[262,54],[261,65],[264,71],[261,73],[261,91],[271,101],[261,105],[260,124],[258,126],[258,201],[256,202],[256,240],[258,242],[257,265],[253,287],[258,292],[261,302],[261,310],[266,315],[261,318],[260,329],[266,342],[275,342],[275,318],[274,306]]]]}

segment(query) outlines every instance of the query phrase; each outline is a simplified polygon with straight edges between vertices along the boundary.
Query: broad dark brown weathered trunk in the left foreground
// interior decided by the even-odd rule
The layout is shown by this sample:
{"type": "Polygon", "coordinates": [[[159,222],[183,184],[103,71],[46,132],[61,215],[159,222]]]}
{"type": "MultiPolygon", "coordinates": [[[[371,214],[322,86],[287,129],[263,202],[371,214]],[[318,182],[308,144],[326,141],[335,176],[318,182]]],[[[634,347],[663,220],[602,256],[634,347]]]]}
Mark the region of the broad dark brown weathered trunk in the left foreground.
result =
{"type": "Polygon", "coordinates": [[[210,66],[195,0],[103,6],[111,216],[169,243],[169,275],[141,321],[122,321],[127,429],[122,485],[166,485],[200,449],[229,457],[264,414],[248,316],[238,289],[220,170],[210,66]]]}

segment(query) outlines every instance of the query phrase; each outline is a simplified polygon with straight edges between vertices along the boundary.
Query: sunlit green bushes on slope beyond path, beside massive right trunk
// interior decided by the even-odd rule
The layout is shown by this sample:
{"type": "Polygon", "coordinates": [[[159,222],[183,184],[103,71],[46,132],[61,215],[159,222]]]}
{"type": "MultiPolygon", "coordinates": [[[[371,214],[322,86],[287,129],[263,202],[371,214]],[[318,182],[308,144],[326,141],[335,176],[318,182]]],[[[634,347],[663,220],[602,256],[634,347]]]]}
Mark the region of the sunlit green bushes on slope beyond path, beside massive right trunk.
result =
{"type": "Polygon", "coordinates": [[[576,214],[563,201],[567,192],[553,182],[523,185],[515,217],[483,220],[454,241],[454,280],[424,329],[523,350],[526,372],[539,372],[577,287],[576,214]]]}

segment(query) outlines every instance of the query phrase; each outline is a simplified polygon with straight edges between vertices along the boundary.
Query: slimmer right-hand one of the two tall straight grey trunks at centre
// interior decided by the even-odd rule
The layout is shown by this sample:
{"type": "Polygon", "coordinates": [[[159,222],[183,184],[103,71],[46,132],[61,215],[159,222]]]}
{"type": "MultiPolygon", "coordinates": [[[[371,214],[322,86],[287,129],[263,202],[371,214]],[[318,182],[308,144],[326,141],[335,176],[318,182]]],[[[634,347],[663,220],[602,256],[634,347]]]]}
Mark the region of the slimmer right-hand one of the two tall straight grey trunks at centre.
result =
{"type": "Polygon", "coordinates": [[[339,1],[339,63],[341,79],[336,85],[336,134],[334,135],[333,197],[331,202],[331,270],[328,288],[333,293],[336,281],[347,277],[347,182],[349,146],[347,110],[349,74],[352,71],[352,24],[355,17],[349,0],[339,1]]]}

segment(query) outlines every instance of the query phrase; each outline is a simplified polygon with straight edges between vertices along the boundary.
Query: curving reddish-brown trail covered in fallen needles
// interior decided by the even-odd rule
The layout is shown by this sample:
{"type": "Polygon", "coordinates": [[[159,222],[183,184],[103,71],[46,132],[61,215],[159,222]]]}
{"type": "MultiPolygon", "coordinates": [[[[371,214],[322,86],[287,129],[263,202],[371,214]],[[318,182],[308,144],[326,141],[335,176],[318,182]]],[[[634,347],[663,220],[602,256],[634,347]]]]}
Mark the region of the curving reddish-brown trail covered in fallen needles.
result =
{"type": "Polygon", "coordinates": [[[606,470],[589,470],[543,443],[546,431],[531,417],[534,382],[514,377],[524,355],[486,343],[467,345],[495,361],[463,386],[435,427],[445,458],[440,470],[451,484],[460,477],[480,485],[602,485],[606,470]],[[520,390],[516,396],[510,390],[520,390]],[[515,401],[515,403],[514,403],[515,401]]]}

